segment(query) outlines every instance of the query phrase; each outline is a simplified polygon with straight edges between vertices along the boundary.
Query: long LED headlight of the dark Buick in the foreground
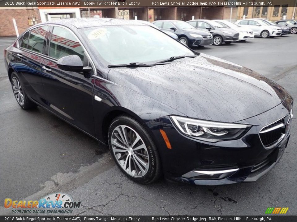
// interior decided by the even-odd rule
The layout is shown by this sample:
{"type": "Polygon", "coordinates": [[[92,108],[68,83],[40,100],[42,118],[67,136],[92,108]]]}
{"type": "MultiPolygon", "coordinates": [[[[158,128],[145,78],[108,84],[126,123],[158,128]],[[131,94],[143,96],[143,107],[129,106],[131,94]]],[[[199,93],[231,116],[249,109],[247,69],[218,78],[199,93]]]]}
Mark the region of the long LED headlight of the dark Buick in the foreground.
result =
{"type": "Polygon", "coordinates": [[[250,125],[204,121],[179,116],[170,116],[170,118],[182,134],[209,142],[239,138],[251,127],[250,125]]]}

